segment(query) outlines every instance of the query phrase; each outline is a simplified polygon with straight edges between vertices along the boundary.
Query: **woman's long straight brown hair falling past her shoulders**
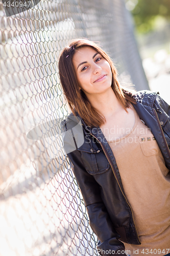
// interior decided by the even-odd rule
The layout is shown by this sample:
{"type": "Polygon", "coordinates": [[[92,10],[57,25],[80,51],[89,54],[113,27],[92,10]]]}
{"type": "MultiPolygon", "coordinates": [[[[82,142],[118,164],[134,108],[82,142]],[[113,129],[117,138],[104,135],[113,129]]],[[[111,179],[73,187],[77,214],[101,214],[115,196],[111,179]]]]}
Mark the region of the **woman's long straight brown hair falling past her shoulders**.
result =
{"type": "Polygon", "coordinates": [[[62,50],[58,62],[59,76],[64,95],[75,116],[77,112],[87,125],[100,126],[106,122],[106,119],[90,104],[85,93],[79,89],[76,71],[72,63],[72,57],[75,54],[75,50],[84,46],[92,47],[109,62],[112,72],[111,87],[125,110],[129,106],[128,102],[135,103],[136,101],[127,94],[124,94],[117,81],[117,71],[112,60],[98,45],[87,39],[74,39],[70,41],[69,45],[62,50]]]}

